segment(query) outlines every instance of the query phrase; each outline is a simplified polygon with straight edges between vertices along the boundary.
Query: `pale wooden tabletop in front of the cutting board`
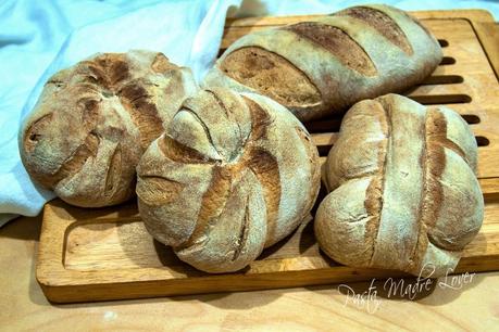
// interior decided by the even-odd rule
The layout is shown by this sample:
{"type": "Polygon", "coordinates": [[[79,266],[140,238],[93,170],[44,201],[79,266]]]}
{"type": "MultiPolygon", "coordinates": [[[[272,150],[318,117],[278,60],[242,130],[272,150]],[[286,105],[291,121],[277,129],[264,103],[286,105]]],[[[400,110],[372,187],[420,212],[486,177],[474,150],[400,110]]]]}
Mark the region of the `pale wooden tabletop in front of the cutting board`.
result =
{"type": "MultiPolygon", "coordinates": [[[[40,225],[23,217],[0,228],[0,331],[494,331],[499,322],[499,272],[416,301],[378,296],[373,314],[334,284],[54,305],[35,279],[40,225]]],[[[362,293],[370,282],[348,285],[362,293]]]]}

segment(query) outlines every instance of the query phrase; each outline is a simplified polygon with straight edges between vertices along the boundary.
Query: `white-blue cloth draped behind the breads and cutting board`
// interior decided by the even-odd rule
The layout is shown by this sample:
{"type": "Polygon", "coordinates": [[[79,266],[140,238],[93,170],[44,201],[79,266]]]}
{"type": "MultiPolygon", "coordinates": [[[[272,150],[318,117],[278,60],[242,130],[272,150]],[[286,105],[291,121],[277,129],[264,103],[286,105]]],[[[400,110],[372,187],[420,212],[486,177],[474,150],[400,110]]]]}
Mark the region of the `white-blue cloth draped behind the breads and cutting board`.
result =
{"type": "MultiPolygon", "coordinates": [[[[200,79],[213,63],[225,16],[330,13],[365,1],[0,1],[0,226],[37,215],[53,193],[37,188],[18,155],[17,131],[47,78],[97,52],[150,49],[190,66],[200,79]]],[[[388,0],[404,10],[483,8],[495,1],[388,0]]]]}

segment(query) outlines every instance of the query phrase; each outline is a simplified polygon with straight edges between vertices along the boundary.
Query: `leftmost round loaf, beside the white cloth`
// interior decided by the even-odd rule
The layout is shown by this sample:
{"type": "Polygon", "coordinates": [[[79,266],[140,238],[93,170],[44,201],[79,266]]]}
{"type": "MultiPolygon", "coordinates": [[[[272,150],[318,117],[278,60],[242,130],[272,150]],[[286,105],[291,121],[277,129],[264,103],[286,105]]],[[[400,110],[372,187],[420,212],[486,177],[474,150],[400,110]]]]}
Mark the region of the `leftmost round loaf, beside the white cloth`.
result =
{"type": "Polygon", "coordinates": [[[23,164],[73,205],[134,195],[135,167],[196,84],[149,51],[97,54],[53,75],[20,131],[23,164]]]}

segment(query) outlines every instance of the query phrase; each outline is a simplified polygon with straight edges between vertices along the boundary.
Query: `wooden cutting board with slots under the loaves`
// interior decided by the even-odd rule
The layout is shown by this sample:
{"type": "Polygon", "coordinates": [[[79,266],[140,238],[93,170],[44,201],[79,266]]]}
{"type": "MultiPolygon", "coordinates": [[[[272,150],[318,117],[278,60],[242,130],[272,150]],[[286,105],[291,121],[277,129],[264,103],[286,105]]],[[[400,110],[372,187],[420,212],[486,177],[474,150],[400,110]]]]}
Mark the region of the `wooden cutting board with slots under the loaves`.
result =
{"type": "MultiPolygon", "coordinates": [[[[478,177],[485,220],[457,272],[499,269],[499,34],[485,11],[415,12],[439,39],[444,61],[407,92],[423,104],[446,104],[471,125],[478,142],[478,177]]],[[[227,21],[221,51],[253,30],[311,16],[227,21]]],[[[308,124],[324,159],[340,118],[308,124]]],[[[307,222],[265,250],[242,271],[207,274],[176,258],[147,233],[135,203],[84,209],[60,200],[46,205],[36,274],[57,303],[140,298],[327,284],[402,276],[397,271],[340,266],[325,257],[307,222]]]]}

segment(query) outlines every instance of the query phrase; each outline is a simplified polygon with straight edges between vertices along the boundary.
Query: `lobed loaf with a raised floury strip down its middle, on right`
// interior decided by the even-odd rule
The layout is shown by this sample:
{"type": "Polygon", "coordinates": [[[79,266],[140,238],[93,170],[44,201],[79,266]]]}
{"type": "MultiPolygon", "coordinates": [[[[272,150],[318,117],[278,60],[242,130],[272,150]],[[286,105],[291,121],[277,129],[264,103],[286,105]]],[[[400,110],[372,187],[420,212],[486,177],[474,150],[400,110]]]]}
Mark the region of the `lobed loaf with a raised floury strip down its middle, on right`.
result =
{"type": "Polygon", "coordinates": [[[476,159],[470,127],[449,108],[397,94],[357,103],[327,156],[321,248],[354,267],[452,270],[483,220],[476,159]]]}

